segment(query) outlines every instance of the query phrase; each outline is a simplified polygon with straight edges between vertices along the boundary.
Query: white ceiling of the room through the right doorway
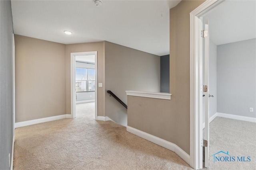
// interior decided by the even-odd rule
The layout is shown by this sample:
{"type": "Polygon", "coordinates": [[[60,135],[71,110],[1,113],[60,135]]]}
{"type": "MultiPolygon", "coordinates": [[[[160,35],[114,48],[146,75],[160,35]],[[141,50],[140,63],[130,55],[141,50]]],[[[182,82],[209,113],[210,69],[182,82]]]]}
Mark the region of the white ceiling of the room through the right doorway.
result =
{"type": "Polygon", "coordinates": [[[216,45],[256,38],[256,0],[226,0],[206,15],[216,45]]]}

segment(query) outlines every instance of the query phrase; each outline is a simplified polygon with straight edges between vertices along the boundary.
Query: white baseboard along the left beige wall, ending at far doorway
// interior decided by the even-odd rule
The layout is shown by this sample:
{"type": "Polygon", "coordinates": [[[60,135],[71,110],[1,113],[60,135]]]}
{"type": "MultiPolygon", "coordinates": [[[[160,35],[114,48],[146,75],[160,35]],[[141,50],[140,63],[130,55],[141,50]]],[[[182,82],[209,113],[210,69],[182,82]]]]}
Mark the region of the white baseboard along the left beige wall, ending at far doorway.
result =
{"type": "Polygon", "coordinates": [[[71,115],[66,114],[66,115],[58,115],[58,116],[52,116],[52,117],[44,117],[44,118],[28,120],[28,121],[21,121],[21,122],[15,123],[15,128],[28,126],[28,125],[34,125],[37,123],[44,123],[44,122],[48,122],[48,121],[59,120],[59,119],[65,119],[65,118],[71,118],[71,115]]]}

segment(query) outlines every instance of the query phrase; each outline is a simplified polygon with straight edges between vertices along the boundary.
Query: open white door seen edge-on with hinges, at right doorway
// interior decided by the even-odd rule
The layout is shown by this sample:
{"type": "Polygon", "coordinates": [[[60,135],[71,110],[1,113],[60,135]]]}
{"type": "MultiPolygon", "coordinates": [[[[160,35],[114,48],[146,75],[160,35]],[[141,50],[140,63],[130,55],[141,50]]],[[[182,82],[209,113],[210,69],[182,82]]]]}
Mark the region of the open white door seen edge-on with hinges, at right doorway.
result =
{"type": "Polygon", "coordinates": [[[204,140],[207,141],[207,147],[205,146],[204,160],[205,167],[209,168],[209,97],[213,97],[209,94],[209,27],[208,20],[204,22],[204,30],[207,31],[207,36],[204,37],[204,85],[207,86],[207,90],[204,89],[203,100],[204,100],[204,140]]]}

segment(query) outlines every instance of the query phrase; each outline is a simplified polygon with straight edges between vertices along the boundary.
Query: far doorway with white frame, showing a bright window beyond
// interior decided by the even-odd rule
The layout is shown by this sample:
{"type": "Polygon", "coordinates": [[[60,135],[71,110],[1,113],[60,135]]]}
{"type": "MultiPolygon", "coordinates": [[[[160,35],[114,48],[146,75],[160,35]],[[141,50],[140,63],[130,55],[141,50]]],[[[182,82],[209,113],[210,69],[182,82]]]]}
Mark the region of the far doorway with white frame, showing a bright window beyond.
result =
{"type": "Polygon", "coordinates": [[[77,112],[92,114],[93,111],[93,117],[97,119],[97,90],[97,51],[71,53],[72,118],[77,112]]]}

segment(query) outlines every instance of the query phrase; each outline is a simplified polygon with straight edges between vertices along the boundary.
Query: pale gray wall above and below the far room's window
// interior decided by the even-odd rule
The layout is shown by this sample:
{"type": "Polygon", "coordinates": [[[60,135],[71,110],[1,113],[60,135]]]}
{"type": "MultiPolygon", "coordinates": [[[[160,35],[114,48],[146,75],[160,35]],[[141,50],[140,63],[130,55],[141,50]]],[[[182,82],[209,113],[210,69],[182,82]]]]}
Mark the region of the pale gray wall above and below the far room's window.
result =
{"type": "MultiPolygon", "coordinates": [[[[95,68],[94,64],[76,62],[76,67],[95,68]]],[[[95,100],[95,92],[77,92],[76,101],[95,100]]]]}

